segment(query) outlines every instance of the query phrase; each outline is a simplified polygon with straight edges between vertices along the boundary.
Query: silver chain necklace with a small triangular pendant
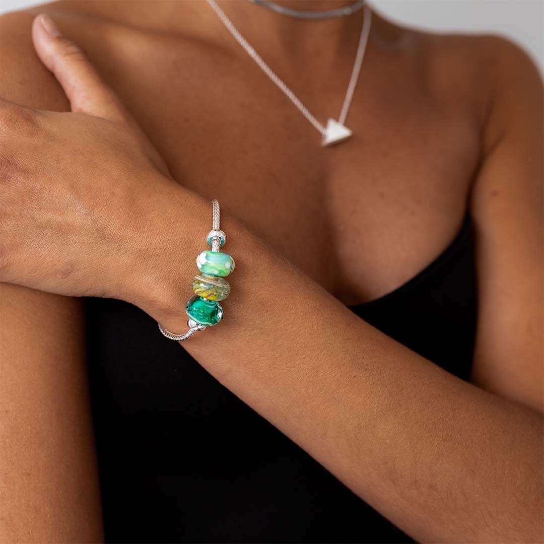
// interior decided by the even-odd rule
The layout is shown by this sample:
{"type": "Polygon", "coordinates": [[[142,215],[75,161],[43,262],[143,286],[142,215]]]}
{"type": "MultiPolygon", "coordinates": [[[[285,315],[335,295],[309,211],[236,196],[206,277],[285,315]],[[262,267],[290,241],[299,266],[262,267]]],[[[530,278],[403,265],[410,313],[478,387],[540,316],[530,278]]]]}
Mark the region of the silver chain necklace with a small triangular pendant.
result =
{"type": "Polygon", "coordinates": [[[207,0],[208,4],[213,8],[215,13],[220,18],[221,22],[225,25],[228,32],[230,32],[233,38],[244,48],[246,53],[255,61],[255,63],[261,68],[261,70],[278,86],[278,88],[289,98],[289,100],[295,105],[305,118],[312,123],[312,125],[322,135],[321,145],[329,146],[336,144],[339,141],[345,140],[353,134],[350,129],[344,126],[345,119],[348,116],[348,110],[351,104],[351,99],[357,85],[357,79],[361,70],[361,63],[364,57],[364,51],[367,48],[368,35],[370,33],[370,21],[372,17],[372,11],[368,8],[368,5],[364,4],[364,21],[361,29],[361,36],[359,38],[359,45],[357,46],[357,54],[355,55],[355,63],[353,70],[351,71],[351,77],[349,79],[348,90],[345,93],[344,103],[338,120],[329,118],[327,126],[323,126],[311,113],[304,104],[295,96],[294,92],[276,75],[276,73],[268,66],[267,63],[260,57],[260,55],[249,44],[248,40],[240,34],[238,29],[234,26],[230,18],[227,17],[225,12],[219,7],[215,0],[207,0]]]}

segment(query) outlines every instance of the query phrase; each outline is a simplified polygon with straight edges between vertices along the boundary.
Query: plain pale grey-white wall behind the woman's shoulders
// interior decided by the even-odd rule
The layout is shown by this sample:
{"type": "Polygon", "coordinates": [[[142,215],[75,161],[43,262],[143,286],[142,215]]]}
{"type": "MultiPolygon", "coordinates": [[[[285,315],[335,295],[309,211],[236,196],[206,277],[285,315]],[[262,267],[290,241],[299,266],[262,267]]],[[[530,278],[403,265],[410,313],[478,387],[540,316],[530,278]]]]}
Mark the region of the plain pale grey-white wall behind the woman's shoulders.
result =
{"type": "MultiPolygon", "coordinates": [[[[104,0],[108,1],[114,0],[104,0]]],[[[540,70],[544,71],[544,0],[370,1],[385,16],[410,26],[508,36],[531,53],[540,70]]],[[[41,3],[44,2],[0,0],[0,13],[41,3]]]]}

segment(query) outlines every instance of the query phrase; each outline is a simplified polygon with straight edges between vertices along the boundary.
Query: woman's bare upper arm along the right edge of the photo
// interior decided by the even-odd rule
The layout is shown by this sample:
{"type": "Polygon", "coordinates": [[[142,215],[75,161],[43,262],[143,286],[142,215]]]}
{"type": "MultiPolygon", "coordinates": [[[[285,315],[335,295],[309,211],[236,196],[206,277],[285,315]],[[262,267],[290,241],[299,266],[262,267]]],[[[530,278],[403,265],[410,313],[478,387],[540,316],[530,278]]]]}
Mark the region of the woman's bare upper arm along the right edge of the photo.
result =
{"type": "Polygon", "coordinates": [[[542,410],[542,80],[508,40],[485,45],[491,92],[471,195],[479,289],[472,381],[542,410]]]}

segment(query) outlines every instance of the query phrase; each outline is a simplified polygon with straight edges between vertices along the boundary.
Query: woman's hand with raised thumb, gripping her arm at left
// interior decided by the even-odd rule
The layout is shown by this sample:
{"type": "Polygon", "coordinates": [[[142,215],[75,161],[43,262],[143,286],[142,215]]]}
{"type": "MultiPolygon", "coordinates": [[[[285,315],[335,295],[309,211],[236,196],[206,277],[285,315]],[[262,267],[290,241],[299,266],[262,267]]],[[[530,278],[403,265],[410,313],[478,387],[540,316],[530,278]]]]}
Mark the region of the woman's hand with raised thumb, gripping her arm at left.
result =
{"type": "Polygon", "coordinates": [[[134,301],[184,191],[82,50],[47,16],[32,33],[72,113],[0,102],[0,281],[134,301]]]}

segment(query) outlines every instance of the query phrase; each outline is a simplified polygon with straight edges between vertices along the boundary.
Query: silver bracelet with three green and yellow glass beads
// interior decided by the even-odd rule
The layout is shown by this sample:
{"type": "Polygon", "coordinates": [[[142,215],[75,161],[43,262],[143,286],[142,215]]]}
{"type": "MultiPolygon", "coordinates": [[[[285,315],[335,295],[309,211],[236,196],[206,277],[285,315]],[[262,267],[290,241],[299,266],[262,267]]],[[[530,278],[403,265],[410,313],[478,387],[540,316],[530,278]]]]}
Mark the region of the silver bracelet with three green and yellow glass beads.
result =
{"type": "Polygon", "coordinates": [[[187,325],[189,330],[184,335],[175,335],[159,325],[160,332],[171,340],[187,340],[196,331],[203,331],[206,327],[217,325],[223,317],[223,308],[220,300],[225,300],[231,292],[231,286],[224,279],[234,270],[234,259],[227,253],[221,253],[219,248],[225,245],[226,234],[220,230],[219,202],[212,200],[213,221],[212,230],[206,237],[211,251],[202,251],[196,257],[196,266],[200,274],[193,277],[194,296],[187,301],[185,311],[189,316],[187,325]]]}

